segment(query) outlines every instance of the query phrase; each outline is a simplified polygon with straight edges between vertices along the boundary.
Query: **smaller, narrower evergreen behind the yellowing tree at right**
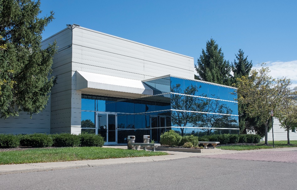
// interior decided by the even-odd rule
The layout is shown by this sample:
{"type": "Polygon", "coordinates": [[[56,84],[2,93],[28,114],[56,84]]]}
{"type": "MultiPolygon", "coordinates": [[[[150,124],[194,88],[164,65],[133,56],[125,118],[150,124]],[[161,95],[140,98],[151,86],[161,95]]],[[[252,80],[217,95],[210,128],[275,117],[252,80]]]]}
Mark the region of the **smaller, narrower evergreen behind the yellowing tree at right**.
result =
{"type": "Polygon", "coordinates": [[[239,49],[235,56],[237,60],[234,59],[234,63],[232,63],[233,82],[236,82],[236,79],[241,76],[248,76],[253,66],[252,62],[247,60],[247,56],[244,57],[242,49],[239,49]]]}

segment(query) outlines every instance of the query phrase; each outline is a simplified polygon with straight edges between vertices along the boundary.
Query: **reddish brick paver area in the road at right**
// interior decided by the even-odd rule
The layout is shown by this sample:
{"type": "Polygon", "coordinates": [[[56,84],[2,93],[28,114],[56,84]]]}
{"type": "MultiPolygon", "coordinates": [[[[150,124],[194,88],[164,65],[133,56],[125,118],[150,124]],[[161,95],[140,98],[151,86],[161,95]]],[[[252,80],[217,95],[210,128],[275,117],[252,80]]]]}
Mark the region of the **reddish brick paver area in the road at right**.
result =
{"type": "Polygon", "coordinates": [[[218,154],[218,155],[197,156],[197,157],[297,163],[297,151],[260,151],[260,152],[218,154]]]}

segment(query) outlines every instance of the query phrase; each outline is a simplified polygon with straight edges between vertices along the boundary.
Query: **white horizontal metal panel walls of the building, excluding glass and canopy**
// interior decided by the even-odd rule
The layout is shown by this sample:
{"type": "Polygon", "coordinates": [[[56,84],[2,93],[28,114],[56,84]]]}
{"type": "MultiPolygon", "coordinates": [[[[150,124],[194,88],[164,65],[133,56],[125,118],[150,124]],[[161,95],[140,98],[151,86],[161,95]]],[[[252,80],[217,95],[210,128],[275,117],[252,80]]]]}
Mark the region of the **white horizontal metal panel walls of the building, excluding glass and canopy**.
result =
{"type": "MultiPolygon", "coordinates": [[[[192,57],[133,42],[91,29],[72,26],[42,42],[42,47],[57,42],[53,58],[52,88],[46,110],[33,115],[20,113],[0,123],[0,133],[74,133],[81,132],[81,90],[76,90],[76,71],[145,80],[166,74],[194,79],[192,57]],[[27,128],[22,128],[23,124],[27,128]],[[30,124],[30,125],[29,125],[30,124]]],[[[85,92],[84,92],[85,93],[85,92]]],[[[96,92],[89,94],[99,95],[96,92]]],[[[108,96],[108,94],[105,94],[108,96]]],[[[114,96],[115,94],[112,94],[114,96]]],[[[123,95],[119,92],[119,97],[123,95]]]]}

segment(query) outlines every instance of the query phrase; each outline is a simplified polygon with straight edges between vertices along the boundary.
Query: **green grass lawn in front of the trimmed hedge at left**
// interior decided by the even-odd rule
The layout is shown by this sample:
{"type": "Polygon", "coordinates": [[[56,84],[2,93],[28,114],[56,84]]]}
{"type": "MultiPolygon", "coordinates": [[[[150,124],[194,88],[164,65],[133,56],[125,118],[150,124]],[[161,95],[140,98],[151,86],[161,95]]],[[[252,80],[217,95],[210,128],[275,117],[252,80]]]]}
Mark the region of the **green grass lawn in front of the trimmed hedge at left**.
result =
{"type": "Polygon", "coordinates": [[[168,155],[166,152],[137,151],[120,148],[63,147],[36,148],[21,151],[0,152],[0,165],[38,162],[64,162],[75,160],[97,160],[124,157],[147,157],[168,155]]]}

